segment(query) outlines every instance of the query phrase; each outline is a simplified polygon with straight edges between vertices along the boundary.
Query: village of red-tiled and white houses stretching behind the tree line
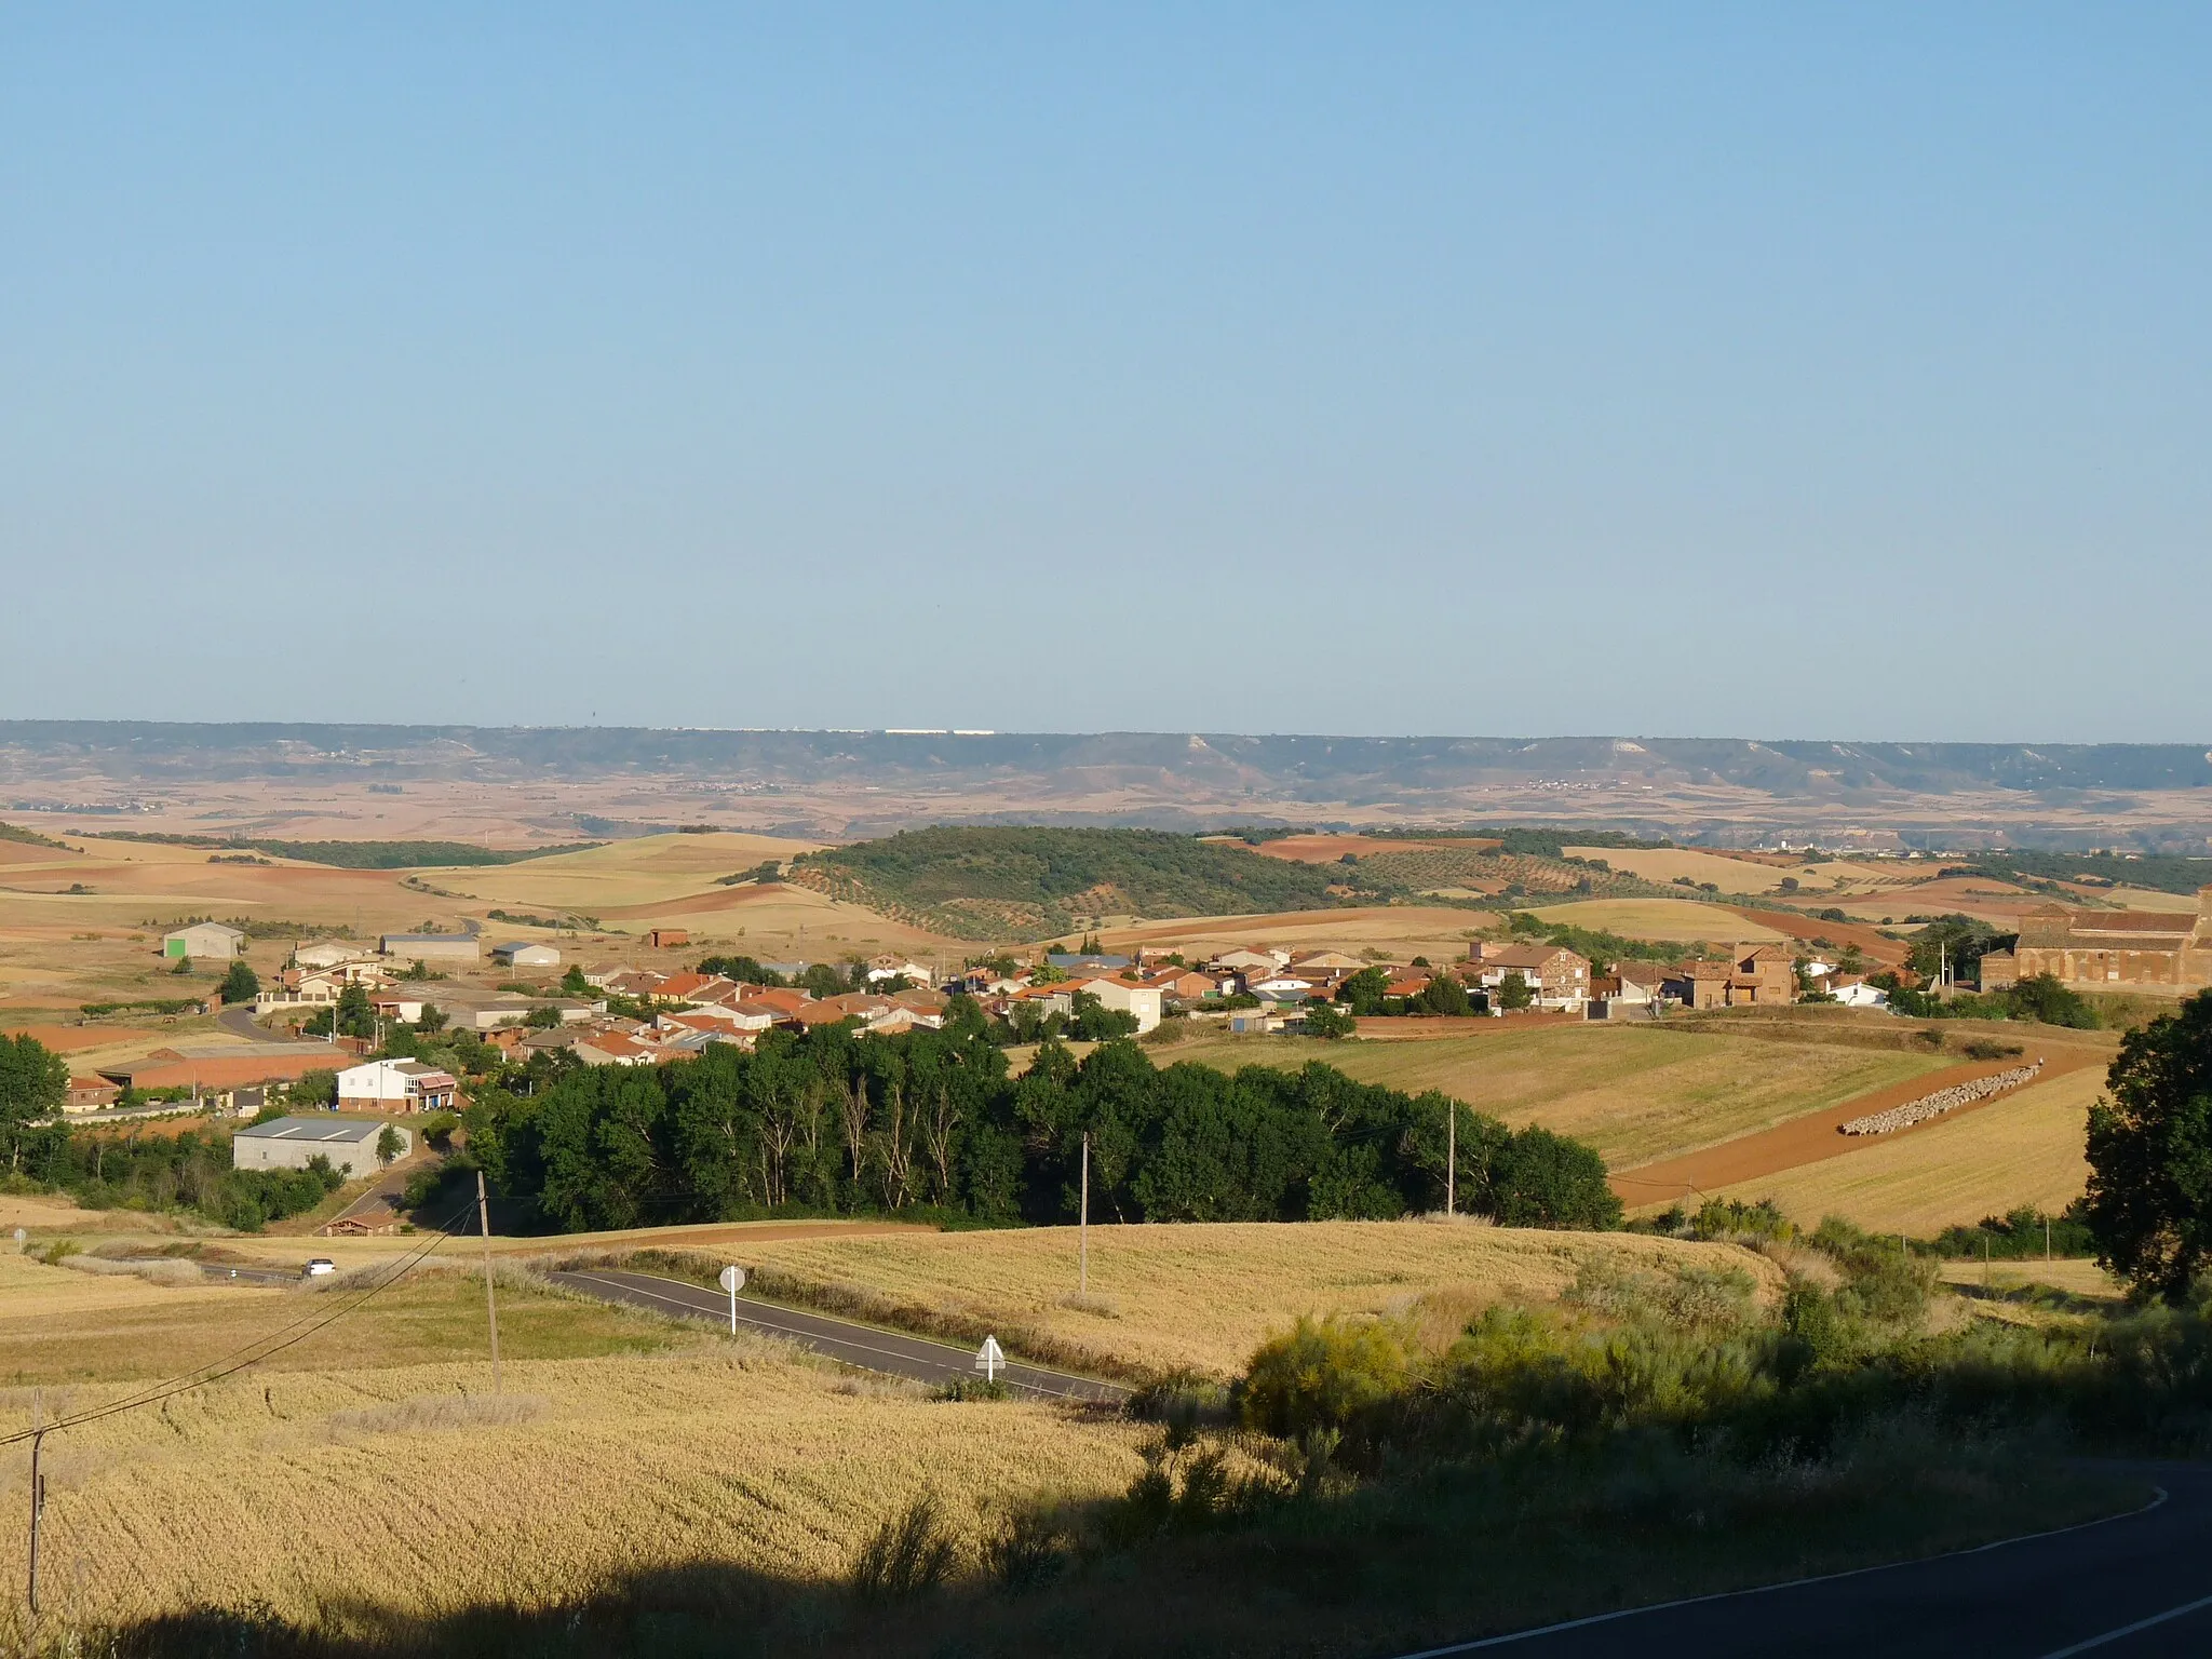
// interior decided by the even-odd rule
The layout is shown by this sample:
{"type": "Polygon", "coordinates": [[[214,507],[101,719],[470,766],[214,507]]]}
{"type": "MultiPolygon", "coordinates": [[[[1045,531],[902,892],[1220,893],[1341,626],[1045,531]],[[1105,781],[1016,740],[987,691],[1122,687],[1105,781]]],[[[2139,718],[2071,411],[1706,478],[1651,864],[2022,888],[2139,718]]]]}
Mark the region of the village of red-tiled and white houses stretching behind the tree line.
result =
{"type": "MultiPolygon", "coordinates": [[[[246,936],[192,922],[161,940],[170,960],[243,960],[246,936]]],[[[684,929],[653,929],[644,951],[690,951],[684,929]]],[[[1394,962],[1383,951],[1290,951],[1252,945],[1199,960],[1172,949],[1113,953],[1044,949],[962,967],[911,956],[754,962],[708,956],[697,967],[568,962],[557,945],[484,942],[478,931],[383,933],[303,942],[250,1002],[221,1006],[248,1044],[168,1046],[75,1077],[71,1113],[148,1110],[188,1097],[195,1108],[252,1117],[274,1091],[336,1073],[321,1102],[352,1113],[442,1113],[460,1079],[409,1057],[369,1057],[398,1033],[469,1033],[507,1064],[657,1066],[712,1044],[752,1048],[774,1029],[849,1024],[863,1035],[938,1031],[953,998],[1002,1022],[1011,1042],[1148,1037],[1175,1020],[1225,1035],[1352,1035],[1358,1020],[1495,1018],[1655,1020],[1674,1009],[1776,1006],[1814,995],[1880,1006],[1858,973],[1781,945],[1736,945],[1674,964],[1613,962],[1548,942],[1473,940],[1462,960],[1394,962]]]]}

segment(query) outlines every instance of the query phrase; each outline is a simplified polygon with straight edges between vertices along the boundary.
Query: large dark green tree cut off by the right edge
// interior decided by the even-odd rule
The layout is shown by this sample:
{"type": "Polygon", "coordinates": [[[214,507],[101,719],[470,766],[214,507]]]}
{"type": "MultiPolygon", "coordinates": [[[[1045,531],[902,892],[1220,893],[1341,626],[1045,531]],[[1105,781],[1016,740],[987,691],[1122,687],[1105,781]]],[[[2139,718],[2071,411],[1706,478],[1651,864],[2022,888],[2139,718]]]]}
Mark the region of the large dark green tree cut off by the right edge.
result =
{"type": "Polygon", "coordinates": [[[2097,1263],[2179,1303],[2212,1250],[2212,991],[2137,1026],[2088,1108],[2097,1263]]]}

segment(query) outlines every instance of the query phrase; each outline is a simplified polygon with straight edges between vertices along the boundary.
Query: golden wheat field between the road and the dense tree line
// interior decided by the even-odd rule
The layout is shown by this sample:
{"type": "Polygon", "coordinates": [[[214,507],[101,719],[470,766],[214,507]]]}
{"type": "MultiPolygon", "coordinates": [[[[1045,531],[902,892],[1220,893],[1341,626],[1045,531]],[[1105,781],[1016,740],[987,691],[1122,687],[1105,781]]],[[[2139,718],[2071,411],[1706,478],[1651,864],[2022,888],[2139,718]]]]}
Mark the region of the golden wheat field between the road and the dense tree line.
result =
{"type": "Polygon", "coordinates": [[[770,1287],[885,1323],[969,1332],[1009,1349],[1121,1376],[1232,1376],[1303,1314],[1411,1318],[1431,1334],[1504,1301],[1553,1301],[1584,1267],[1615,1274],[1772,1263],[1732,1245],[1471,1221],[1307,1221],[1091,1228],[1091,1292],[1077,1294],[1075,1228],[794,1239],[741,1252],[770,1287]]]}

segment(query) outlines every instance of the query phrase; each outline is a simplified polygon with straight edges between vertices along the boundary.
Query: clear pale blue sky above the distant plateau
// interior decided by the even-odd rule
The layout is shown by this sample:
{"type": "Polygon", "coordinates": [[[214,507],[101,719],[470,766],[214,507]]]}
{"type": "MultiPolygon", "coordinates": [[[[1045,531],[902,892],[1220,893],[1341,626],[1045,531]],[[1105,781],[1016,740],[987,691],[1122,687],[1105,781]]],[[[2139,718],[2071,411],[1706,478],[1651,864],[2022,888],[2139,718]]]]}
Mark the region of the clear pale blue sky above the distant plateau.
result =
{"type": "Polygon", "coordinates": [[[0,714],[2212,737],[2203,7],[0,20],[0,714]]]}

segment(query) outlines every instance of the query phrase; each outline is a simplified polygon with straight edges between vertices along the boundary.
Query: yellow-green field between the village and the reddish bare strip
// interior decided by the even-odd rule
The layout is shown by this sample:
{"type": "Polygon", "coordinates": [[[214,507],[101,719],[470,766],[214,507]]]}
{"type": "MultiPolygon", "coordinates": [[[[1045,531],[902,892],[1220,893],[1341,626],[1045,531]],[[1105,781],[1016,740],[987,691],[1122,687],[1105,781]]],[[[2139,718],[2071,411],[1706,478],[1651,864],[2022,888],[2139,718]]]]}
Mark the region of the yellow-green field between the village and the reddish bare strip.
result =
{"type": "Polygon", "coordinates": [[[1513,1128],[1544,1128],[1630,1168],[1840,1106],[1944,1064],[1940,1057],[1832,1042],[1774,1042],[1657,1026],[1495,1022],[1495,1033],[1436,1042],[1217,1037],[1157,1053],[1159,1064],[1327,1064],[1367,1084],[1440,1088],[1513,1128]]]}

